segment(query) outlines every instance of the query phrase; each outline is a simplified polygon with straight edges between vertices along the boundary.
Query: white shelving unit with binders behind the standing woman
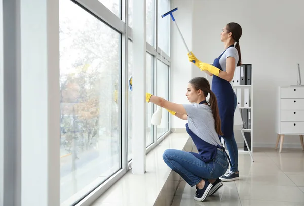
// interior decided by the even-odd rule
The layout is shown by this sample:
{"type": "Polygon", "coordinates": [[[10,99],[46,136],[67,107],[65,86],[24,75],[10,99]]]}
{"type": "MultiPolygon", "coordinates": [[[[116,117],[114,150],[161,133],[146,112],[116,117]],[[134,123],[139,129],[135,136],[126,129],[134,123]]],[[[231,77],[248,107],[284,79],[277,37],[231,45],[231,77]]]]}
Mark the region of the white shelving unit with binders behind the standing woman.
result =
{"type": "MultiPolygon", "coordinates": [[[[242,115],[243,119],[243,129],[240,130],[242,133],[242,136],[244,139],[247,140],[249,150],[247,149],[247,146],[244,141],[244,147],[239,148],[239,153],[249,153],[251,152],[251,159],[253,161],[253,81],[251,79],[252,77],[252,65],[251,64],[243,64],[240,67],[237,67],[235,70],[234,78],[231,81],[232,87],[237,94],[238,98],[238,106],[242,115]],[[245,90],[249,91],[249,99],[246,99],[246,102],[248,100],[247,106],[245,105],[245,90]],[[240,94],[238,94],[240,92],[240,94]],[[244,115],[247,116],[247,119],[244,119],[244,115]],[[250,126],[248,122],[250,121],[250,126]],[[246,123],[247,122],[247,123],[246,123]],[[248,128],[249,127],[249,128],[248,128]],[[248,133],[250,134],[248,138],[248,133]]],[[[247,94],[247,93],[246,93],[247,94]]],[[[235,131],[236,132],[236,131],[235,131]]]]}

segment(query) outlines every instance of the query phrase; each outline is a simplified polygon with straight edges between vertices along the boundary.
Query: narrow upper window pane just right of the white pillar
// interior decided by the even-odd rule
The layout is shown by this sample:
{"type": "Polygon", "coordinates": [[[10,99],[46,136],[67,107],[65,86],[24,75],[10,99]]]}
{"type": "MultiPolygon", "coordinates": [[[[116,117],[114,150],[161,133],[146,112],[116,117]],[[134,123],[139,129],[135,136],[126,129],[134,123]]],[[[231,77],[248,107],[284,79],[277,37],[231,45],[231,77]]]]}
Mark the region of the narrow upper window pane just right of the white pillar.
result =
{"type": "Polygon", "coordinates": [[[146,42],[154,46],[154,0],[146,0],[146,42]]]}

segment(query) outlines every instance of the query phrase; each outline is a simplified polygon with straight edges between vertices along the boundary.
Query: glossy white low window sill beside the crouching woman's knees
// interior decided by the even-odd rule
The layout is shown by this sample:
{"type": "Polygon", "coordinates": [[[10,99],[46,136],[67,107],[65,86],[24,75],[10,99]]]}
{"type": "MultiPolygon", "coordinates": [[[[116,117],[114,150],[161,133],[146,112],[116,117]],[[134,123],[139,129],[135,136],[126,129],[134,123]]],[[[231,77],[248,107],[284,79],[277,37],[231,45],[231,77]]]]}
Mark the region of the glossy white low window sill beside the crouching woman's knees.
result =
{"type": "Polygon", "coordinates": [[[130,170],[92,205],[171,205],[181,177],[163,160],[169,148],[192,151],[193,142],[187,133],[171,133],[147,154],[145,174],[135,175],[130,170]]]}

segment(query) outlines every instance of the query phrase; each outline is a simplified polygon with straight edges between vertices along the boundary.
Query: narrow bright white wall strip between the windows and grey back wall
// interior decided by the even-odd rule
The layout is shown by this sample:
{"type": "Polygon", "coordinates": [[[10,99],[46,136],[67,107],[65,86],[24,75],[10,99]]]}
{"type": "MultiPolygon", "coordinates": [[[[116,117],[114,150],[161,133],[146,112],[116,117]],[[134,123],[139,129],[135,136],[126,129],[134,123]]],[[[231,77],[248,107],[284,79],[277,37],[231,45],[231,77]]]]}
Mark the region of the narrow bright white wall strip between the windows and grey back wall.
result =
{"type": "MultiPolygon", "coordinates": [[[[193,2],[193,0],[171,0],[171,9],[178,7],[173,16],[189,48],[192,45],[193,2]]],[[[185,96],[191,79],[191,63],[188,61],[187,53],[177,27],[171,20],[171,101],[179,104],[189,103],[185,96]]],[[[172,115],[170,118],[171,128],[185,128],[186,121],[172,115]]]]}

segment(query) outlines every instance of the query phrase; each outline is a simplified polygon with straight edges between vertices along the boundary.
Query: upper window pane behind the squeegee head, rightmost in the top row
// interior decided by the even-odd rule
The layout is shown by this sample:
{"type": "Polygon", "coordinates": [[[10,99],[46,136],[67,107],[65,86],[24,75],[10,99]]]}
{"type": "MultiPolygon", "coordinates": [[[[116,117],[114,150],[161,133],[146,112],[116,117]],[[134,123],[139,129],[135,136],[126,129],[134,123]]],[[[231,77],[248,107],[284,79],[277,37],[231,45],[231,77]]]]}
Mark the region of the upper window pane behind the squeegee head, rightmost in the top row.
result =
{"type": "Polygon", "coordinates": [[[158,46],[170,55],[170,15],[164,18],[161,15],[170,11],[170,1],[169,0],[158,0],[158,46]]]}

